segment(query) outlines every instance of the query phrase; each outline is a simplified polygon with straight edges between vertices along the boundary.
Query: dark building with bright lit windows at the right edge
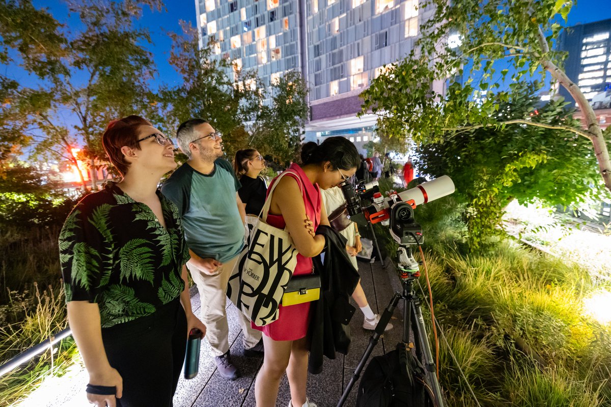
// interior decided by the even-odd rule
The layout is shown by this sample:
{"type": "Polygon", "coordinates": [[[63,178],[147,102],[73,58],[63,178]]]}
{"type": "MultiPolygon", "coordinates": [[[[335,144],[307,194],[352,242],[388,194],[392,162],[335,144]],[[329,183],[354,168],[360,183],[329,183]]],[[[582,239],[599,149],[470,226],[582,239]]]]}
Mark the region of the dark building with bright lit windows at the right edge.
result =
{"type": "MultiPolygon", "coordinates": [[[[588,101],[611,90],[611,19],[568,27],[562,32],[558,49],[568,52],[566,74],[588,101]]],[[[560,88],[560,95],[574,103],[565,88],[560,88]]]]}

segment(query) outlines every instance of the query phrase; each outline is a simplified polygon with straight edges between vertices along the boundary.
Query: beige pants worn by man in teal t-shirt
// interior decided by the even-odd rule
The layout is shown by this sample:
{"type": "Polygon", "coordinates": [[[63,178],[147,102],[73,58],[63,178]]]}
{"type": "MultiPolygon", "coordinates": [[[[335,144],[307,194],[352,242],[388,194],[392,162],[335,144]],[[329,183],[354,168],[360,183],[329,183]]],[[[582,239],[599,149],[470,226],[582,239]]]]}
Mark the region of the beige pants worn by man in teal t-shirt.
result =
{"type": "MultiPolygon", "coordinates": [[[[202,303],[201,318],[206,325],[206,339],[210,342],[214,356],[221,356],[229,350],[229,325],[227,325],[227,283],[236,265],[238,256],[226,261],[216,270],[214,275],[208,275],[194,265],[187,263],[193,281],[197,284],[199,298],[202,303]]],[[[244,333],[244,348],[250,349],[261,340],[261,332],[251,328],[251,322],[237,309],[238,322],[244,333]]]]}

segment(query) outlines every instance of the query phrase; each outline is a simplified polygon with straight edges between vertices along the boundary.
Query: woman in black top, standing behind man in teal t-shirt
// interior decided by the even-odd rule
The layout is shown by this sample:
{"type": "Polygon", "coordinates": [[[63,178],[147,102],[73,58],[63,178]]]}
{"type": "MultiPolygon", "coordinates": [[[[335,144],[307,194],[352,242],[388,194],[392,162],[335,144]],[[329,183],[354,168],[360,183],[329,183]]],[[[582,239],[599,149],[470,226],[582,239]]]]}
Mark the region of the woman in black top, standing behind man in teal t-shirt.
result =
{"type": "Polygon", "coordinates": [[[267,193],[265,179],[260,176],[261,171],[265,170],[263,156],[254,148],[238,150],[233,159],[233,170],[242,184],[238,194],[240,194],[246,213],[260,214],[267,193]]]}

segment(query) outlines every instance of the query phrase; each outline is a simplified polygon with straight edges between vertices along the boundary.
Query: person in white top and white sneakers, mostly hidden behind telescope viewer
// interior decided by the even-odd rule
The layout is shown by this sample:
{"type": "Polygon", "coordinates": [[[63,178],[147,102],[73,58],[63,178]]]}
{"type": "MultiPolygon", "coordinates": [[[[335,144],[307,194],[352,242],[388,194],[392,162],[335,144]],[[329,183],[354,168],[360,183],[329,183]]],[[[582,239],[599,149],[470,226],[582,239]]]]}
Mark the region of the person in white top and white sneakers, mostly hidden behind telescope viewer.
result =
{"type": "MultiPolygon", "coordinates": [[[[323,196],[324,208],[326,209],[327,214],[329,214],[329,218],[331,218],[331,214],[333,214],[336,209],[346,204],[346,200],[344,199],[342,189],[340,187],[323,189],[321,195],[323,196]]],[[[333,223],[331,226],[333,226],[333,223]]],[[[346,242],[346,251],[348,251],[350,261],[354,265],[354,268],[359,270],[359,265],[356,262],[356,255],[362,250],[362,245],[360,244],[358,226],[356,223],[352,222],[345,229],[338,230],[338,232],[345,237],[346,240],[348,240],[348,242],[346,242]]],[[[367,297],[365,297],[365,292],[363,287],[360,285],[360,281],[356,286],[356,289],[354,289],[352,298],[354,298],[354,301],[356,301],[360,311],[362,311],[363,315],[365,316],[363,328],[366,330],[375,330],[380,317],[379,314],[374,314],[373,311],[371,311],[371,307],[367,302],[367,297]]],[[[386,326],[385,331],[390,329],[392,329],[392,323],[389,323],[386,326]]]]}

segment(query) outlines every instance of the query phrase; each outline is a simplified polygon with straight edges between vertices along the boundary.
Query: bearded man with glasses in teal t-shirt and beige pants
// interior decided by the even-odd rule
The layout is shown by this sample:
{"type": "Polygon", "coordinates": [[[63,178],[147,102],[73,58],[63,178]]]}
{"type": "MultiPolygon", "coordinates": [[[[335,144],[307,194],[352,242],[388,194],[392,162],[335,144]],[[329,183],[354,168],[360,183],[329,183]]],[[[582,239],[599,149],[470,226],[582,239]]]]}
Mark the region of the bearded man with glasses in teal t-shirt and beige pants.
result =
{"type": "MultiPolygon", "coordinates": [[[[239,376],[229,356],[229,326],[225,303],[227,282],[244,246],[244,206],[238,195],[240,181],[232,166],[222,159],[221,135],[210,123],[191,119],[180,124],[178,145],[189,160],[161,187],[178,206],[191,259],[187,263],[202,303],[206,338],[219,373],[234,380],[239,376]]],[[[260,331],[240,312],[244,353],[263,350],[260,331]]]]}

